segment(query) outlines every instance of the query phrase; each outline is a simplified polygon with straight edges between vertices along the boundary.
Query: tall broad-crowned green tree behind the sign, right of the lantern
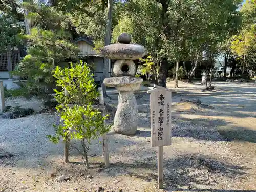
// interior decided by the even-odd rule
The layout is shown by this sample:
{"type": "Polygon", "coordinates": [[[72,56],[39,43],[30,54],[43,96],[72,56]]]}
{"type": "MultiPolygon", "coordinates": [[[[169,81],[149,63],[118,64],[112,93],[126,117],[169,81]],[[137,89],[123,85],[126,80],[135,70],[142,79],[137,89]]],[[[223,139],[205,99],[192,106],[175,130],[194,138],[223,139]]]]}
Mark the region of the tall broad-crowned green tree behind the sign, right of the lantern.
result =
{"type": "Polygon", "coordinates": [[[236,0],[133,0],[127,3],[121,23],[129,20],[132,24],[126,29],[141,37],[134,41],[145,45],[152,54],[159,66],[158,83],[166,86],[170,63],[176,63],[178,72],[180,61],[191,59],[191,55],[194,60],[200,56],[205,41],[223,40],[236,23],[238,5],[236,0]]]}

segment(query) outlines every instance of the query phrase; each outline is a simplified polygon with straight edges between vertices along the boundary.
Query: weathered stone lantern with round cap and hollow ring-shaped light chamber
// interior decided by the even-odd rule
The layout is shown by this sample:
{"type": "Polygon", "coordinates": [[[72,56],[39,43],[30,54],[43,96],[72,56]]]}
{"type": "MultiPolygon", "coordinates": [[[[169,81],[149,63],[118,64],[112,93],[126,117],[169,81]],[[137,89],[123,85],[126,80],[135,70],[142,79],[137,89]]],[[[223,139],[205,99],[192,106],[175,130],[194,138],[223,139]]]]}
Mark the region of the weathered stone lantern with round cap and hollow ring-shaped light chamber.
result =
{"type": "Polygon", "coordinates": [[[133,60],[146,54],[143,46],[132,44],[131,40],[130,34],[122,33],[117,37],[118,44],[105,46],[101,51],[104,57],[116,60],[113,68],[116,77],[105,78],[103,83],[119,91],[114,131],[123,135],[135,135],[137,131],[138,106],[133,92],[140,89],[143,79],[134,77],[136,66],[133,60]]]}

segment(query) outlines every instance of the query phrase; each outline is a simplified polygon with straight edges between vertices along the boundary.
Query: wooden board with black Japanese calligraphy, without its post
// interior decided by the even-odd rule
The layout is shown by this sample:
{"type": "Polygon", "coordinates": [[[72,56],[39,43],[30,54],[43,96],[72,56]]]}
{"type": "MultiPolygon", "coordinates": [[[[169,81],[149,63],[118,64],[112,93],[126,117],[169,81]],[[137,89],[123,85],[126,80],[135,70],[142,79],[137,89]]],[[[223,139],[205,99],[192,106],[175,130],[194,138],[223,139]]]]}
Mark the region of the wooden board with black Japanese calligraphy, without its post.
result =
{"type": "Polygon", "coordinates": [[[151,92],[150,105],[151,145],[168,146],[171,144],[172,92],[157,88],[151,92]]]}

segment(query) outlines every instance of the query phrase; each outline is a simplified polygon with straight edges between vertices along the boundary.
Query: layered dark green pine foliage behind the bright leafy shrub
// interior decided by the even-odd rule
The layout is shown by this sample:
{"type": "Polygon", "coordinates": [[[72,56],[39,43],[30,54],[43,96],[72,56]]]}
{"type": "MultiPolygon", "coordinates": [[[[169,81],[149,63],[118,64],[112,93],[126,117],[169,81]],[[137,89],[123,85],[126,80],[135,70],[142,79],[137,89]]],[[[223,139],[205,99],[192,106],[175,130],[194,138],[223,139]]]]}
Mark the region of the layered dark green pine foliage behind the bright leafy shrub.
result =
{"type": "Polygon", "coordinates": [[[75,59],[77,47],[72,44],[65,31],[31,29],[30,35],[23,35],[30,42],[28,55],[19,64],[19,73],[35,83],[52,83],[52,71],[56,65],[67,65],[65,59],[75,59]]]}

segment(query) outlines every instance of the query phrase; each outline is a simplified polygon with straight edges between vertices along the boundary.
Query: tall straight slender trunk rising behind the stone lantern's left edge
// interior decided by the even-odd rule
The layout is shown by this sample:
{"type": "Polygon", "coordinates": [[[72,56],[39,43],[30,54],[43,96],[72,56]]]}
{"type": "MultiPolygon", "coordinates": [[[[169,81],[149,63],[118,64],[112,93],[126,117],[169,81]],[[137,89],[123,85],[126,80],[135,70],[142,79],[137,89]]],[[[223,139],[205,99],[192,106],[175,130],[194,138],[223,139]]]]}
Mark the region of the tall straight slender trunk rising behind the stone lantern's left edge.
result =
{"type": "MultiPolygon", "coordinates": [[[[106,22],[106,37],[105,37],[105,46],[110,45],[111,39],[111,24],[112,24],[112,8],[113,8],[113,0],[108,0],[108,20],[106,22]]],[[[109,65],[110,59],[104,58],[103,63],[103,76],[102,80],[109,76],[109,65]]],[[[108,97],[106,94],[106,86],[102,83],[103,96],[108,97]]]]}

